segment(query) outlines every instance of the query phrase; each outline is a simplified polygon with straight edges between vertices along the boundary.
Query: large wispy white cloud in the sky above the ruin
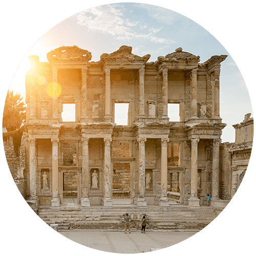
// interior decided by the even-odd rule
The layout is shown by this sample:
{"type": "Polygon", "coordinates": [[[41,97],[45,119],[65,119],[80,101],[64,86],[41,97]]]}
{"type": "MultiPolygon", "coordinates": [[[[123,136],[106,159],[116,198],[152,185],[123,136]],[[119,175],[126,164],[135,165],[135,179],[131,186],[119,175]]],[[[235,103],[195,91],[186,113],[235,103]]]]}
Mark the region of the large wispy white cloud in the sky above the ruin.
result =
{"type": "MultiPolygon", "coordinates": [[[[155,8],[155,6],[153,7],[155,8]]],[[[173,40],[156,36],[162,28],[151,28],[150,33],[137,33],[136,27],[144,30],[147,29],[147,26],[145,24],[141,25],[137,20],[124,18],[125,15],[122,8],[118,4],[108,4],[81,11],[75,15],[78,20],[77,24],[86,26],[92,31],[110,34],[123,41],[144,38],[160,44],[172,44],[174,42],[173,40]]],[[[170,10],[166,9],[166,11],[169,12],[170,10]]]]}

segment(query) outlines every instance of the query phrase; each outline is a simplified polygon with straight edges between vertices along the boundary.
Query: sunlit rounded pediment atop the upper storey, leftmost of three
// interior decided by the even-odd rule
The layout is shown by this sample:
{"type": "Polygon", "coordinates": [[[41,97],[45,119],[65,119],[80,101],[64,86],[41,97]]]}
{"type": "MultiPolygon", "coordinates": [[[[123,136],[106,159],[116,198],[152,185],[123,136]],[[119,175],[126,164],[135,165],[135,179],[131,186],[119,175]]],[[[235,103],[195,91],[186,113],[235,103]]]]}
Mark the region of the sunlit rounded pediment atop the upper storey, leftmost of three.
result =
{"type": "Polygon", "coordinates": [[[92,59],[91,52],[77,46],[61,46],[47,53],[47,59],[55,61],[89,61],[92,59]]]}

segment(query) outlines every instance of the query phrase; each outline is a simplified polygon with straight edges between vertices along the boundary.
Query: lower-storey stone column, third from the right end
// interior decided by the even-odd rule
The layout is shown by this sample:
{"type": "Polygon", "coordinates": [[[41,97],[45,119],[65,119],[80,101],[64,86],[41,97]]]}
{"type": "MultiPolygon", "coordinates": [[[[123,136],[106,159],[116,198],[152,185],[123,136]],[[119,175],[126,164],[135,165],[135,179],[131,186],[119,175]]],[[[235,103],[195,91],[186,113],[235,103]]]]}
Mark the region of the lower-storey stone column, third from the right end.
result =
{"type": "Polygon", "coordinates": [[[167,142],[168,138],[162,138],[161,144],[161,198],[159,206],[169,206],[167,199],[167,142]]]}

